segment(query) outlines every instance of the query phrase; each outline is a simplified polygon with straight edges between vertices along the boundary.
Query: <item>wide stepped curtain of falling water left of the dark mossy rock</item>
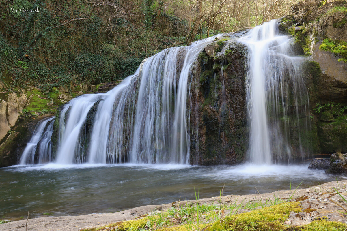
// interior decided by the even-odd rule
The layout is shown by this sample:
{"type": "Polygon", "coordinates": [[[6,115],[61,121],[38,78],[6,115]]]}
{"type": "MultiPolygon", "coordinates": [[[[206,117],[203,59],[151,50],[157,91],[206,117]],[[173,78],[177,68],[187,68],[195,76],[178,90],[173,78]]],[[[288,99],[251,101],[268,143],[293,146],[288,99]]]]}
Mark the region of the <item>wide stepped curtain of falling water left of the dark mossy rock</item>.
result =
{"type": "Polygon", "coordinates": [[[47,121],[51,123],[45,131],[54,140],[49,151],[34,161],[44,120],[20,164],[188,164],[188,78],[198,54],[217,36],[163,50],[146,58],[133,75],[109,92],[81,95],[62,105],[54,126],[53,118],[47,121]]]}

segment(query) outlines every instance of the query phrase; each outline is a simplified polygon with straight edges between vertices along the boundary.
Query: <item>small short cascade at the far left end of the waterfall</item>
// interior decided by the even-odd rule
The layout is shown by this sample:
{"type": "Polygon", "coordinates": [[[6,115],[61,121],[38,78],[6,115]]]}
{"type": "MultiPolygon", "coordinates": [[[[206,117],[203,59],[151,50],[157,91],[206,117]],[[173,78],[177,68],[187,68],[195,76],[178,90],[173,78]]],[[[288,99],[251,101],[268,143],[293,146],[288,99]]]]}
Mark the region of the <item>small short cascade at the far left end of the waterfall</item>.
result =
{"type": "Polygon", "coordinates": [[[20,164],[41,164],[52,161],[52,128],[55,117],[45,118],[39,121],[34,134],[27,143],[20,164]]]}

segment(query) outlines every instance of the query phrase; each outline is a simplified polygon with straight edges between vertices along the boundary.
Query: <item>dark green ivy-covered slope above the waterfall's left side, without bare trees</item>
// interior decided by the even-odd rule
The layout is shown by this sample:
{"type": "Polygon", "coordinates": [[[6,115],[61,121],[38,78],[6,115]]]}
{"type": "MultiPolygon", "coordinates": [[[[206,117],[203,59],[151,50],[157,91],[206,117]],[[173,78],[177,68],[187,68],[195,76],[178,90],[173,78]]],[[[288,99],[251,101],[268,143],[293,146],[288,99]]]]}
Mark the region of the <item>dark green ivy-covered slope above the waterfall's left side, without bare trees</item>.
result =
{"type": "MultiPolygon", "coordinates": [[[[0,77],[5,73],[11,76],[7,87],[31,84],[49,91],[52,87],[81,82],[121,80],[132,74],[144,58],[183,41],[177,29],[165,33],[168,36],[163,35],[161,27],[147,30],[142,14],[128,12],[121,1],[93,9],[96,3],[2,1],[0,77]],[[12,12],[21,8],[41,12],[12,12]],[[88,19],[54,28],[75,18],[88,19]]],[[[165,20],[167,27],[185,24],[175,17],[165,20]]]]}

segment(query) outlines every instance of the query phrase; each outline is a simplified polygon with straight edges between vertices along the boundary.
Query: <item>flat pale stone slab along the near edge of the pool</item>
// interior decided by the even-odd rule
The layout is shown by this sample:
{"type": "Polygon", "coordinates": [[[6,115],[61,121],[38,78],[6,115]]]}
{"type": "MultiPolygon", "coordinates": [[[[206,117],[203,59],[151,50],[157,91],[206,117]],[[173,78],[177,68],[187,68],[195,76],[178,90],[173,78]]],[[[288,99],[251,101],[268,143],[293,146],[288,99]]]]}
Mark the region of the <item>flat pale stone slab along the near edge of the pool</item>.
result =
{"type": "MultiPolygon", "coordinates": [[[[304,184],[304,182],[303,182],[304,184]]],[[[341,196],[335,191],[338,189],[339,193],[347,198],[347,180],[332,181],[324,183],[319,186],[305,188],[305,189],[291,189],[281,190],[272,193],[252,194],[252,195],[227,195],[222,197],[211,197],[198,200],[199,204],[216,203],[223,204],[240,204],[243,201],[254,201],[273,199],[274,196],[281,199],[298,201],[303,208],[302,212],[292,212],[289,219],[286,221],[288,225],[304,225],[312,222],[314,218],[328,217],[329,221],[337,221],[347,223],[347,217],[344,212],[344,207],[347,209],[347,204],[342,200],[341,196]],[[305,217],[307,219],[302,219],[305,217]],[[313,219],[312,219],[313,217],[313,219]]],[[[136,219],[144,214],[152,213],[153,211],[166,211],[168,208],[181,206],[186,203],[196,203],[195,200],[173,202],[163,205],[148,205],[124,210],[116,213],[104,214],[88,214],[81,216],[59,216],[59,217],[39,217],[28,220],[27,230],[47,231],[47,230],[69,230],[79,231],[82,228],[89,228],[94,226],[102,226],[109,223],[118,221],[126,221],[136,219]]],[[[247,212],[247,209],[241,209],[239,213],[247,212]]],[[[24,231],[26,220],[14,221],[5,224],[0,224],[0,231],[24,231]]]]}

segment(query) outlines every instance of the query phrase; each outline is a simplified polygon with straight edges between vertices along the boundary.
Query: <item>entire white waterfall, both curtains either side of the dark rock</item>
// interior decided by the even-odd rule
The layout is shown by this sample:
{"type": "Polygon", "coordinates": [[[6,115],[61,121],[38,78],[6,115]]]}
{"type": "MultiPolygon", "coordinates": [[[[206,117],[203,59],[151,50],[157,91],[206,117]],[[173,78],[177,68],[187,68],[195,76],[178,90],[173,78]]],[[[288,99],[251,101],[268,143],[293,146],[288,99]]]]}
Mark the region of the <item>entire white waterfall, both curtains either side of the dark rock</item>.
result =
{"type": "MultiPolygon", "coordinates": [[[[198,109],[189,108],[188,79],[194,76],[198,54],[218,36],[165,49],[146,58],[109,92],[81,95],[62,105],[55,119],[37,125],[20,164],[189,164],[190,110],[198,109]]],[[[254,164],[290,162],[294,152],[307,152],[301,143],[302,131],[309,127],[304,58],[296,52],[294,38],[279,33],[276,20],[240,36],[238,42],[248,47],[249,159],[254,164]]],[[[221,97],[226,99],[224,61],[219,63],[221,97]]],[[[198,143],[198,136],[193,139],[198,143]]]]}

